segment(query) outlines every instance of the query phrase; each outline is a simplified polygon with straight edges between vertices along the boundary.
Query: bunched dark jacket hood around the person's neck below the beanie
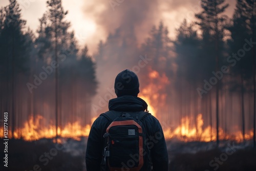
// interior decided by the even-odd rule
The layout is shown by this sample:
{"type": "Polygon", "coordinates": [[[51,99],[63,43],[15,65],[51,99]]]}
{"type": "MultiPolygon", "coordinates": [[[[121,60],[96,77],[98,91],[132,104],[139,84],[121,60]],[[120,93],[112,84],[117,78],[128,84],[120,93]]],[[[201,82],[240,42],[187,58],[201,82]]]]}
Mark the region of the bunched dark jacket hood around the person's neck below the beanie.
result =
{"type": "Polygon", "coordinates": [[[147,103],[139,97],[125,95],[111,99],[109,101],[109,110],[127,112],[145,111],[147,110],[147,103]]]}

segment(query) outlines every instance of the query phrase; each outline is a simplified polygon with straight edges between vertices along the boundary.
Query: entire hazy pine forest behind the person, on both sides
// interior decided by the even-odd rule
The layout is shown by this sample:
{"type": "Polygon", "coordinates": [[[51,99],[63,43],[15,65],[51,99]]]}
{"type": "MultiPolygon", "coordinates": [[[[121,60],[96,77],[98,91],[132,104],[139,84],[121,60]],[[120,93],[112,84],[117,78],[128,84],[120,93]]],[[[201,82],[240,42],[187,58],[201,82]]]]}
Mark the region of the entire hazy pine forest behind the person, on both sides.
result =
{"type": "Polygon", "coordinates": [[[256,2],[236,3],[229,18],[225,0],[201,0],[194,22],[184,18],[176,33],[160,22],[142,45],[137,43],[135,26],[120,26],[99,42],[92,57],[87,46],[77,45],[61,0],[47,1],[36,33],[26,26],[17,1],[10,0],[0,10],[0,115],[12,114],[12,132],[38,114],[60,126],[77,118],[86,124],[97,90],[96,64],[106,74],[105,69],[121,69],[119,61],[132,68],[141,54],[147,54],[153,62],[138,73],[141,88],[161,84],[159,78],[147,78],[153,70],[169,80],[157,90],[167,95],[162,98],[166,108],[158,111],[166,115],[160,119],[173,122],[202,113],[205,125],[217,132],[222,127],[231,133],[237,125],[244,137],[255,130],[256,2]]]}

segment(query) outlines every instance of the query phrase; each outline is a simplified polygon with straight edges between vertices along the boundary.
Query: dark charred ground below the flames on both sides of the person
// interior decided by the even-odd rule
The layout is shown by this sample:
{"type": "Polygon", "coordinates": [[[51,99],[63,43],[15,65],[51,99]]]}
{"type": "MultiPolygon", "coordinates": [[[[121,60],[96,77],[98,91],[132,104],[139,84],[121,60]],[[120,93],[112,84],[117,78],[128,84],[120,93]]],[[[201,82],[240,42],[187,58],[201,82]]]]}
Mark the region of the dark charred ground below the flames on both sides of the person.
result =
{"type": "MultiPolygon", "coordinates": [[[[53,143],[53,139],[9,140],[8,170],[85,171],[86,142],[86,138],[80,141],[65,139],[62,144],[53,143]]],[[[256,150],[249,142],[221,142],[221,147],[214,146],[215,142],[168,140],[169,170],[256,170],[256,150]]],[[[0,154],[3,157],[4,153],[0,154]]]]}

